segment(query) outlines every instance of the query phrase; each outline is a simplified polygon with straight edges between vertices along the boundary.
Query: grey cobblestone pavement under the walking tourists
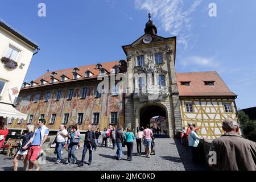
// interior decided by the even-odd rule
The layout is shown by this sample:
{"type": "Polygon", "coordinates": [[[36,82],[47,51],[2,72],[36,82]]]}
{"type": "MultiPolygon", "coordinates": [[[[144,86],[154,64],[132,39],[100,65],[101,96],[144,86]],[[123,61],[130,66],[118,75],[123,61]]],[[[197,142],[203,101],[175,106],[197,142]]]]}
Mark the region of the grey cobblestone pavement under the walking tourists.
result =
{"type": "MultiPolygon", "coordinates": [[[[143,170],[143,171],[184,171],[184,170],[207,170],[203,165],[194,165],[191,163],[189,157],[188,148],[180,144],[180,140],[170,138],[156,138],[156,155],[151,155],[148,159],[146,156],[137,155],[137,145],[134,140],[133,147],[133,161],[127,159],[127,148],[123,147],[122,160],[118,161],[114,159],[115,150],[109,147],[98,147],[96,151],[93,151],[92,165],[88,166],[84,164],[83,167],[77,167],[77,164],[71,164],[66,166],[68,153],[63,150],[63,162],[55,164],[56,155],[47,155],[46,164],[40,165],[40,170],[47,171],[74,171],[74,170],[92,170],[92,171],[131,171],[131,170],[143,170]],[[110,165],[111,164],[111,165],[110,165]],[[111,166],[111,167],[110,167],[111,166]]],[[[142,146],[142,152],[144,146],[142,146]]],[[[77,162],[80,163],[82,150],[75,152],[77,156],[77,162]]],[[[85,161],[88,162],[89,154],[86,154],[85,161]]],[[[22,170],[22,160],[19,161],[18,170],[22,170]]],[[[13,170],[13,162],[10,158],[7,158],[5,154],[0,154],[0,170],[11,171],[13,170]]]]}

